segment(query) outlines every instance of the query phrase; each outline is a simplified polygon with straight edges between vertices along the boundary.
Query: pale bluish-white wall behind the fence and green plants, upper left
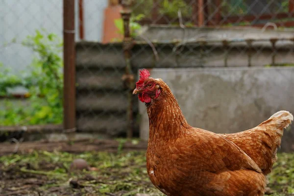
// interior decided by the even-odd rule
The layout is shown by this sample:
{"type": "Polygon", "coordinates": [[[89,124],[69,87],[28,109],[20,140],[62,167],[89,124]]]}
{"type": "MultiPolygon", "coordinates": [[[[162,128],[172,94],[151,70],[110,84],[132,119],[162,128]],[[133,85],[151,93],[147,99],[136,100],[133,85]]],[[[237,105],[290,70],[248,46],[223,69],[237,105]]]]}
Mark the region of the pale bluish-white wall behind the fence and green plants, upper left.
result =
{"type": "MultiPolygon", "coordinates": [[[[36,29],[45,28],[62,38],[62,0],[0,0],[0,62],[20,73],[31,63],[32,52],[19,45],[4,46],[16,38],[21,42],[36,29]]],[[[103,10],[107,0],[84,0],[85,39],[100,41],[102,37],[103,10]]],[[[75,0],[75,39],[78,40],[78,5],[75,0]]],[[[1,68],[0,68],[1,71],[1,68]]]]}

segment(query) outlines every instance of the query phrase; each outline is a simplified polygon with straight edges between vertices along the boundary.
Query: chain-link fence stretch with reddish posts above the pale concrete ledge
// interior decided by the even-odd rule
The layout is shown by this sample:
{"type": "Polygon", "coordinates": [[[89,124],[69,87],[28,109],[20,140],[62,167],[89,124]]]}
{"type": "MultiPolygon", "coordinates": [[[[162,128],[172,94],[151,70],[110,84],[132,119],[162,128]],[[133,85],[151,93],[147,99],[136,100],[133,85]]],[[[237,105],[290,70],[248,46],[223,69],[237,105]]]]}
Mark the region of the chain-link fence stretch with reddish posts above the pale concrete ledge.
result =
{"type": "Polygon", "coordinates": [[[293,26],[293,9],[292,0],[137,0],[132,7],[145,24],[258,27],[293,26]]]}

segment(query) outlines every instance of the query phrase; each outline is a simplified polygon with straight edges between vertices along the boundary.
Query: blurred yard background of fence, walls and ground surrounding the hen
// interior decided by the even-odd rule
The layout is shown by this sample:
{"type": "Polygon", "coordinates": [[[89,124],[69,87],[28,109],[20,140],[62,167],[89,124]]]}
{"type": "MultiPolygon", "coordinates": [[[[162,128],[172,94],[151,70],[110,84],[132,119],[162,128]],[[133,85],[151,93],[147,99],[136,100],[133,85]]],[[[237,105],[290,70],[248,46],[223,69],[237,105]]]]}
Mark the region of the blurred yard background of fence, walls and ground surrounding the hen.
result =
{"type": "MultiPolygon", "coordinates": [[[[132,95],[142,68],[193,126],[233,133],[294,113],[294,0],[0,3],[0,194],[161,195],[132,95]],[[71,175],[76,158],[88,171],[71,175]]],[[[294,195],[293,139],[294,126],[268,194],[294,195]]]]}

